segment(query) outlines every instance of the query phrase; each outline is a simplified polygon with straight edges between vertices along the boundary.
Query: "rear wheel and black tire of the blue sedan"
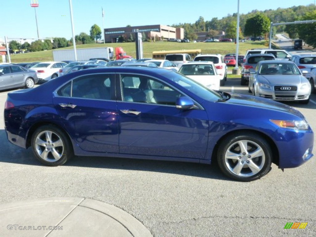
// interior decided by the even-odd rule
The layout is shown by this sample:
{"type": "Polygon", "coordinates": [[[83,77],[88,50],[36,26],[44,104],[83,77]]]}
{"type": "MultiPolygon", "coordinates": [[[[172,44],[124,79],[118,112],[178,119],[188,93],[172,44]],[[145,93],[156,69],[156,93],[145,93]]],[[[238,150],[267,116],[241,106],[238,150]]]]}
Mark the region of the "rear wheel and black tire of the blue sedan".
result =
{"type": "Polygon", "coordinates": [[[31,144],[36,159],[48,166],[63,165],[74,154],[68,136],[53,125],[36,129],[31,144]]]}

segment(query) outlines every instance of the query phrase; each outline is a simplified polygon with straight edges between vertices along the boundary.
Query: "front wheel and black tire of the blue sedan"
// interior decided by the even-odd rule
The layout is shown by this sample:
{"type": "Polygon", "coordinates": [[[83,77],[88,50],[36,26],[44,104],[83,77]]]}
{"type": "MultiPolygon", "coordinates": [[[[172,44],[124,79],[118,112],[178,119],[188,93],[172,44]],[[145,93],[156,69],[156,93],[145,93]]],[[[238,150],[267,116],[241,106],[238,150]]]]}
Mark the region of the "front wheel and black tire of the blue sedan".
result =
{"type": "Polygon", "coordinates": [[[249,182],[260,179],[270,171],[272,151],[261,136],[252,132],[239,132],[229,135],[220,143],[217,162],[228,177],[249,182]],[[243,147],[246,149],[243,150],[243,147]]]}

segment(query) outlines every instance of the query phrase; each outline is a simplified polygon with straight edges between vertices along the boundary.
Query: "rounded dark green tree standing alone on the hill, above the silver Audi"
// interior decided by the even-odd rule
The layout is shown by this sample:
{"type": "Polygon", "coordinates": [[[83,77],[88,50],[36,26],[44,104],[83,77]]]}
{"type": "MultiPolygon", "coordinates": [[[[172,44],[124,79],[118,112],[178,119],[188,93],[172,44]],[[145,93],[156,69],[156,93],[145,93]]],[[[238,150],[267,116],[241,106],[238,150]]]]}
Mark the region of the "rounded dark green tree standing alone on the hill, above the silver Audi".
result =
{"type": "Polygon", "coordinates": [[[262,13],[247,19],[244,33],[247,36],[260,36],[269,31],[270,19],[262,13]]]}

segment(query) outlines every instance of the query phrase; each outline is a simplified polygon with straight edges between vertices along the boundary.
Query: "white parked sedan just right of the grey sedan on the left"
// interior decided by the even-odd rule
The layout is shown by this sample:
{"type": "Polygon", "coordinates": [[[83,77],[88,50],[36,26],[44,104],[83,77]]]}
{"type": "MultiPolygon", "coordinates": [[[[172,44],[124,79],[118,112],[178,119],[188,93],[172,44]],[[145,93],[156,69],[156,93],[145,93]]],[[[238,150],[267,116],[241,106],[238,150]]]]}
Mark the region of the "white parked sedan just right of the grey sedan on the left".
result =
{"type": "Polygon", "coordinates": [[[34,70],[39,78],[39,82],[47,82],[58,77],[59,69],[67,64],[63,62],[43,62],[34,65],[30,70],[34,70]]]}

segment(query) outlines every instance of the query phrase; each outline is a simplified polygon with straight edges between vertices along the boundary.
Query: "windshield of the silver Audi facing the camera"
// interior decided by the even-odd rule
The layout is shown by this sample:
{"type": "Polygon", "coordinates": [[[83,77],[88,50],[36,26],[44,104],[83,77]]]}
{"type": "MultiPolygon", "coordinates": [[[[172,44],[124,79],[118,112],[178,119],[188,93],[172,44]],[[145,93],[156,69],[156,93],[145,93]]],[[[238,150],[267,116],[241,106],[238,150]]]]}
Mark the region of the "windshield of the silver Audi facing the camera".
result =
{"type": "Polygon", "coordinates": [[[259,68],[259,74],[295,74],[301,72],[295,64],[290,63],[264,63],[259,68]]]}

